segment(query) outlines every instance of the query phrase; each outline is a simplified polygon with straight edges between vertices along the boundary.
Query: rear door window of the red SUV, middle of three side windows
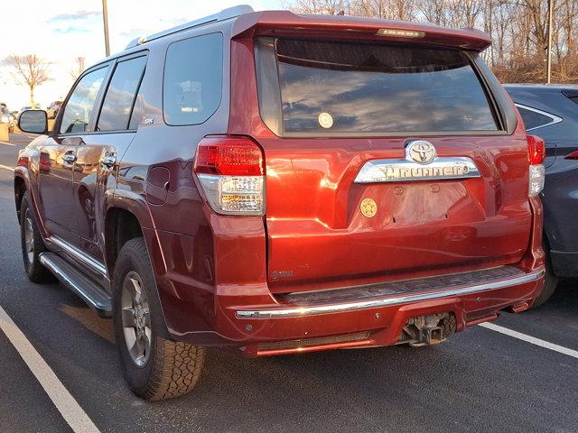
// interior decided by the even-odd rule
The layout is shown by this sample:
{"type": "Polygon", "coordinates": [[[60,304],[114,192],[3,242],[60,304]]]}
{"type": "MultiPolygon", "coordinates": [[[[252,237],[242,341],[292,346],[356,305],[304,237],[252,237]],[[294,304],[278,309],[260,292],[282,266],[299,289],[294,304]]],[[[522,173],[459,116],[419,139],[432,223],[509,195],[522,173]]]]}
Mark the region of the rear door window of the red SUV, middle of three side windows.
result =
{"type": "Polygon", "coordinates": [[[128,119],[145,64],[146,57],[125,60],[117,64],[100,110],[97,131],[117,131],[128,127],[128,119]]]}

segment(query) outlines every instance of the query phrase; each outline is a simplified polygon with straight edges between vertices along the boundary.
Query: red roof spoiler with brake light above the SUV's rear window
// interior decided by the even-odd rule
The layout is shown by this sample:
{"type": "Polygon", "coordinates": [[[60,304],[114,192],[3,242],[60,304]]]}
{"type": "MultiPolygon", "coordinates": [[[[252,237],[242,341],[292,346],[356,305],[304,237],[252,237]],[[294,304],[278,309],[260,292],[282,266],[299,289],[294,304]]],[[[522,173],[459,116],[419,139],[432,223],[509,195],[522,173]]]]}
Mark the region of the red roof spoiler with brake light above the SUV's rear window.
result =
{"type": "Polygon", "coordinates": [[[491,44],[491,39],[486,33],[475,29],[449,29],[433,24],[340,15],[301,15],[288,11],[265,11],[241,15],[233,24],[233,36],[245,32],[270,36],[317,33],[325,37],[331,37],[334,34],[351,38],[369,37],[377,41],[422,41],[432,45],[473,51],[483,51],[491,44]],[[378,34],[380,30],[386,32],[378,34]]]}

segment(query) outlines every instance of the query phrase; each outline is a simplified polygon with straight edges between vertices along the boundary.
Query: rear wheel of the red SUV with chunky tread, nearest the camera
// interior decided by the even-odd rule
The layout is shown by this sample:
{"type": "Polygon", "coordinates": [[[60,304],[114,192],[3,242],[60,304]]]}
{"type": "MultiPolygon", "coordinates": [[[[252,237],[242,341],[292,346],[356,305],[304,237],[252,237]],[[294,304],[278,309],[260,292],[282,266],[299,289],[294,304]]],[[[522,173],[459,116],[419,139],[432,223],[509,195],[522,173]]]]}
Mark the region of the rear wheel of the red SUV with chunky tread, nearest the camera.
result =
{"type": "MultiPolygon", "coordinates": [[[[167,336],[163,312],[156,293],[154,274],[142,237],[131,239],[123,245],[115,265],[113,290],[115,337],[124,366],[126,382],[131,390],[144,400],[154,401],[178,397],[190,392],[199,382],[205,360],[205,348],[175,342],[167,336]],[[125,322],[123,321],[123,309],[125,309],[125,314],[127,314],[126,309],[129,309],[126,306],[126,298],[123,300],[123,285],[128,284],[129,280],[135,281],[134,279],[138,280],[139,290],[145,295],[144,298],[141,295],[140,300],[144,299],[149,313],[146,318],[143,318],[142,311],[146,309],[143,309],[138,300],[133,299],[133,308],[130,309],[135,323],[133,329],[125,327],[126,319],[125,322]],[[139,305],[137,306],[135,302],[139,305]],[[131,355],[129,351],[127,338],[139,338],[138,315],[135,312],[137,308],[141,309],[141,326],[143,323],[144,327],[146,323],[150,324],[148,336],[144,338],[146,332],[143,330],[140,334],[150,342],[148,343],[150,347],[149,350],[144,350],[144,355],[135,361],[135,355],[131,355]],[[136,364],[137,362],[142,364],[136,364]]],[[[144,346],[146,345],[147,343],[144,343],[144,346]]]]}

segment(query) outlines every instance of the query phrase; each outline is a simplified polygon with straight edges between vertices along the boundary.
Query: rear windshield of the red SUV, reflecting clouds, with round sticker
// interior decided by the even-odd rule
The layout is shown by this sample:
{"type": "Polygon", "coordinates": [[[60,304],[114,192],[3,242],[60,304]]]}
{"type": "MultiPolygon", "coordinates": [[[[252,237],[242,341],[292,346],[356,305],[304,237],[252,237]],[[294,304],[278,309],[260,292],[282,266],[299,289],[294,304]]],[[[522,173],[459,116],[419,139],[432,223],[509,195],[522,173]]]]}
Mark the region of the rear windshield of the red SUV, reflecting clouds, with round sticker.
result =
{"type": "Polygon", "coordinates": [[[272,51],[284,133],[498,129],[462,51],[294,39],[277,39],[272,51]]]}

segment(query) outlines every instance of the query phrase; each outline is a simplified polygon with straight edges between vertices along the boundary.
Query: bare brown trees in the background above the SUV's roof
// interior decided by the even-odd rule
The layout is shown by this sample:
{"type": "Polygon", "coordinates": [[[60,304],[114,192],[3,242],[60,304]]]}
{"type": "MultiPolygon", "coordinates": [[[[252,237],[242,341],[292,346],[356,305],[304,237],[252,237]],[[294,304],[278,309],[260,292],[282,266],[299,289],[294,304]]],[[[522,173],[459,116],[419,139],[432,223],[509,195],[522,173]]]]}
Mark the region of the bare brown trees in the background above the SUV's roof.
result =
{"type": "MultiPolygon", "coordinates": [[[[578,83],[578,0],[552,0],[552,82],[578,83]]],[[[548,0],[289,0],[304,14],[340,14],[475,27],[489,34],[484,59],[502,82],[545,82],[548,0]]]]}

